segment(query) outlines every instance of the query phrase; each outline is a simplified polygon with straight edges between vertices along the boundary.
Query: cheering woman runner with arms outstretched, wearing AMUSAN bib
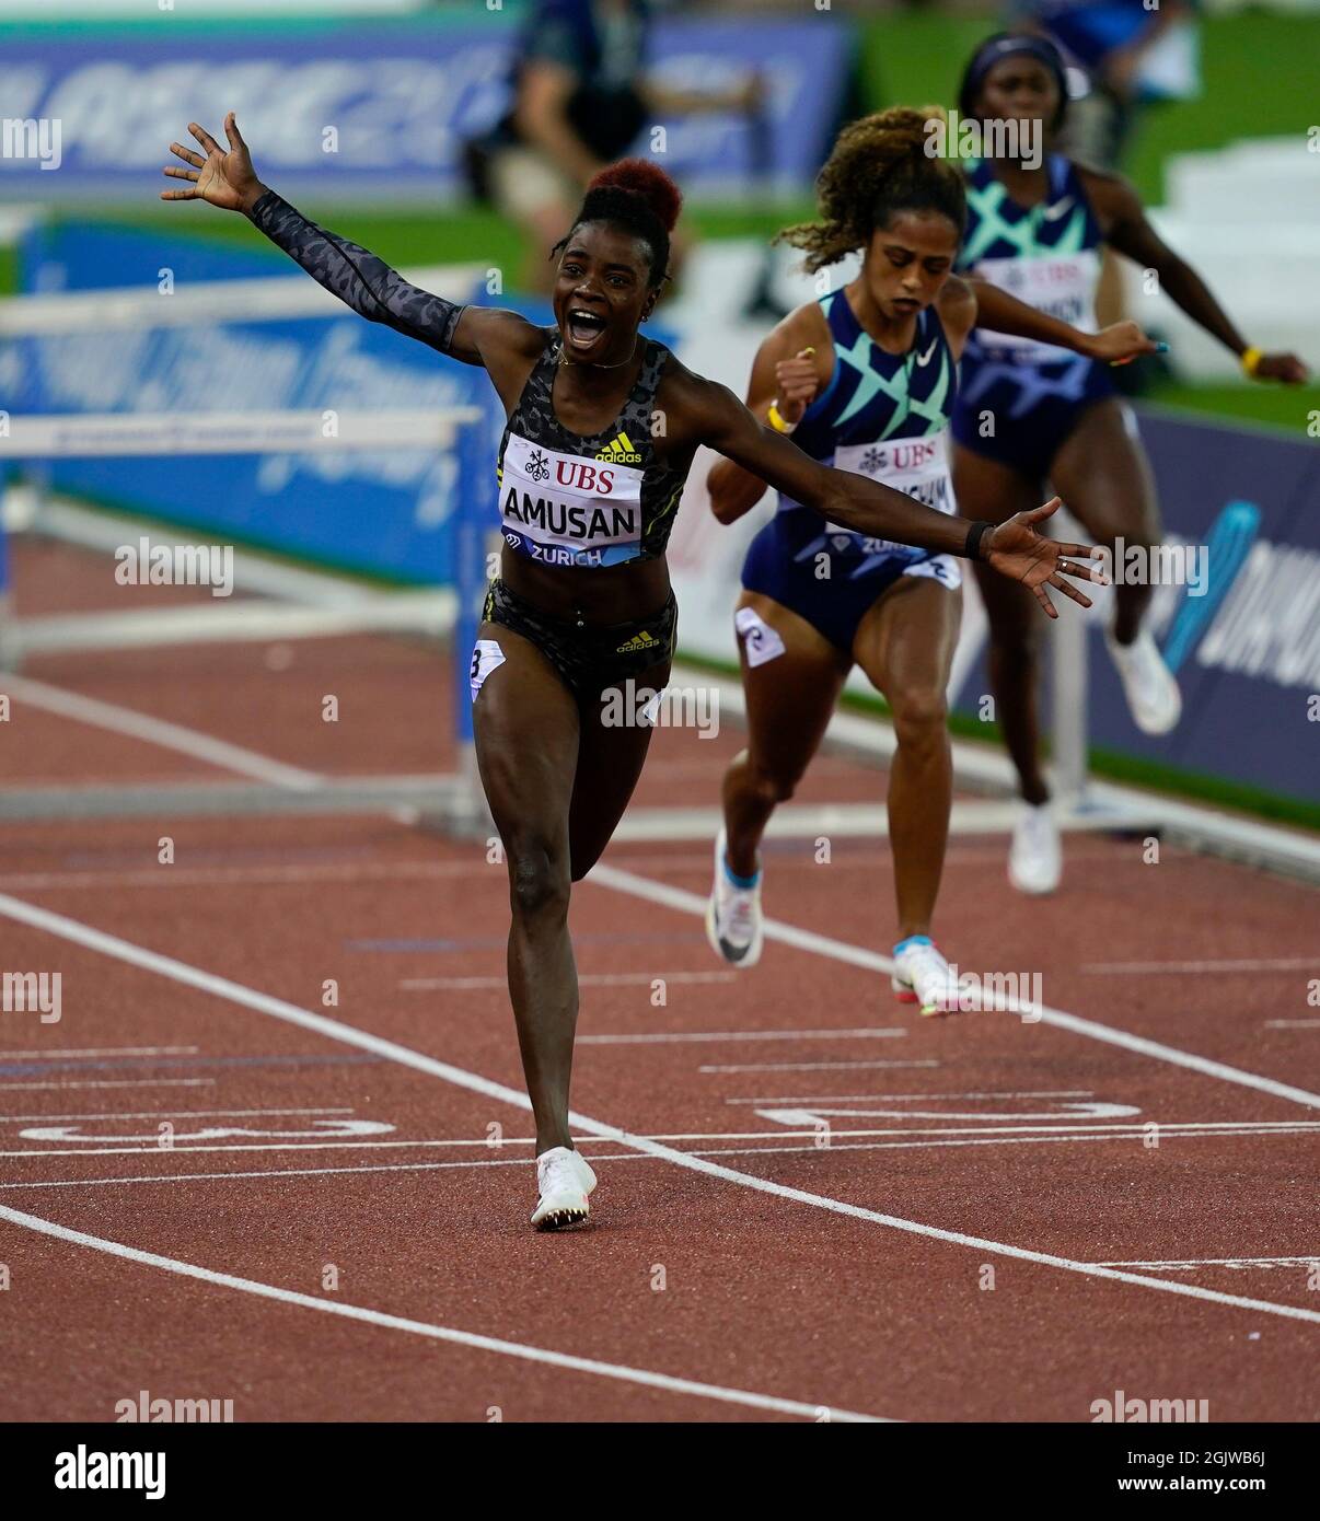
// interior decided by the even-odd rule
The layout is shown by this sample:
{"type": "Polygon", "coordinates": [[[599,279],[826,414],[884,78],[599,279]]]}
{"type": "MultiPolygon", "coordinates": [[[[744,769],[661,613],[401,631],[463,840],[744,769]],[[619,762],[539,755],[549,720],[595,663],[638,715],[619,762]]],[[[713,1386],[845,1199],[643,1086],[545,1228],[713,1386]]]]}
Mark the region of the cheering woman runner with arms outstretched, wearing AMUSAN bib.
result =
{"type": "Polygon", "coordinates": [[[228,152],[196,123],[204,154],[170,144],[190,181],[164,199],[242,211],[362,316],[490,374],[508,426],[500,444],[500,575],[473,660],[478,764],[503,840],[512,926],[509,996],[537,1129],[532,1224],[587,1218],[596,1179],[569,1135],[578,978],[569,891],[610,841],[642,770],[649,727],[608,727],[602,694],[628,678],[663,687],[675,604],[665,543],[698,446],[864,534],[978,557],[1087,605],[1066,575],[1101,580],[1084,545],[1043,538],[1048,502],[992,528],[817,464],[763,427],[725,386],[643,338],[665,281],[677,186],[654,164],[596,176],[560,251],[554,327],[456,306],[322,231],[263,186],[225,117],[228,152]],[[663,426],[660,426],[663,424],[663,426]]]}

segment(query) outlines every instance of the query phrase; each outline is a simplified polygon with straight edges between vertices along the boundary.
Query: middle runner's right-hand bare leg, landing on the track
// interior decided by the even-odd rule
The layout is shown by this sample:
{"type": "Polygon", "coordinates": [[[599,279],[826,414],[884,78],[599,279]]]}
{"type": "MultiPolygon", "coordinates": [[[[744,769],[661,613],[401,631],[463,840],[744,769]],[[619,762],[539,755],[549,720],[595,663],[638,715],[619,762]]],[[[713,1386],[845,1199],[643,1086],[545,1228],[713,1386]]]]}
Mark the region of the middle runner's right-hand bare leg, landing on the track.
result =
{"type": "Polygon", "coordinates": [[[899,940],[928,935],[944,868],[954,760],[946,689],[963,598],[928,576],[900,576],[858,627],[853,656],[894,713],[890,840],[899,940]]]}

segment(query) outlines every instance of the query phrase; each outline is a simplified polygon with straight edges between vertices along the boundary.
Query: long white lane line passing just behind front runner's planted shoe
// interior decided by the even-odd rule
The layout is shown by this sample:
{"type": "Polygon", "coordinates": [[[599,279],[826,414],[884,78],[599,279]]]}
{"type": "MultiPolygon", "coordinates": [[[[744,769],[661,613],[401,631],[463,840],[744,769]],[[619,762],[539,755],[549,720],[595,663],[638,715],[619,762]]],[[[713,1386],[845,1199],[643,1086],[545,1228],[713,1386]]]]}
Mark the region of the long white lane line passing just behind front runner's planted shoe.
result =
{"type": "MultiPolygon", "coordinates": [[[[17,897],[0,894],[0,914],[15,919],[20,923],[30,925],[35,929],[46,929],[53,935],[73,941],[75,945],[100,951],[102,954],[114,957],[119,961],[125,961],[129,966],[138,966],[144,970],[157,972],[158,975],[170,978],[175,983],[181,983],[186,987],[196,987],[202,992],[213,993],[217,998],[240,1004],[245,1008],[252,1008],[257,1013],[283,1019],[303,1030],[313,1030],[330,1040],[341,1040],[345,1045],[356,1045],[362,1049],[373,1051],[376,1056],[397,1062],[400,1066],[408,1066],[414,1071],[427,1072],[432,1077],[443,1078],[455,1088],[465,1088],[470,1092],[482,1094],[487,1098],[509,1104],[511,1107],[523,1112],[531,1110],[531,1100],[528,1095],[519,1089],[508,1088],[505,1083],[496,1083],[488,1077],[468,1072],[465,1068],[453,1066],[449,1062],[438,1062],[435,1057],[424,1056],[421,1051],[412,1051],[409,1046],[398,1045],[394,1040],[385,1040],[383,1037],[374,1036],[366,1030],[356,1030],[353,1025],[328,1019],[325,1015],[313,1015],[310,1010],[298,1008],[295,1004],[287,1004],[281,998],[272,998],[269,993],[260,993],[255,989],[243,987],[242,983],[217,976],[213,972],[204,972],[201,967],[189,966],[173,957],[161,955],[157,951],[148,951],[144,946],[135,946],[128,940],[120,940],[117,935],[105,934],[100,929],[93,929],[90,925],[81,925],[73,919],[65,919],[62,914],[53,914],[46,908],[38,908],[35,903],[24,903],[17,897]]],[[[608,1136],[620,1145],[627,1145],[636,1151],[645,1151],[651,1156],[665,1157],[677,1167],[690,1168],[692,1171],[703,1173],[707,1177],[718,1177],[725,1183],[769,1194],[774,1199],[782,1199],[791,1203],[808,1205],[812,1209],[824,1209],[853,1220],[867,1220],[873,1224],[888,1226],[893,1230],[902,1230],[909,1235],[926,1237],[932,1241],[966,1246],[978,1252],[992,1252],[996,1256],[1008,1256],[1020,1262],[1036,1262],[1042,1267],[1055,1267],[1068,1273],[1080,1273],[1083,1278],[1109,1278],[1115,1282],[1134,1284],[1141,1288],[1154,1288],[1160,1293],[1182,1294],[1185,1297],[1203,1299],[1212,1303],[1259,1310],[1265,1314],[1282,1316],[1284,1319],[1312,1320],[1320,1323],[1320,1311],[1317,1310],[1297,1310],[1293,1305],[1276,1305],[1264,1299],[1245,1299],[1238,1294],[1224,1294],[1218,1290],[1200,1288],[1194,1284],[1144,1278],[1138,1273],[1121,1272],[1110,1267],[1090,1267],[1086,1262],[1078,1262],[1066,1256],[1055,1256],[1049,1252],[1033,1252],[1028,1247],[1010,1246],[1004,1241],[990,1241],[984,1237],[967,1235],[961,1230],[943,1230],[938,1226],[922,1224],[917,1220],[903,1220],[899,1215],[887,1215],[877,1209],[865,1209],[861,1205],[850,1205],[841,1199],[830,1199],[827,1194],[811,1194],[801,1188],[789,1188],[783,1183],[776,1183],[771,1179],[757,1177],[754,1173],[739,1173],[731,1167],[724,1167],[722,1164],[712,1162],[707,1157],[696,1157],[686,1151],[675,1151],[672,1147],[660,1145],[655,1141],[646,1141],[642,1136],[634,1136],[627,1130],[620,1130],[617,1126],[608,1126],[599,1119],[592,1119],[587,1115],[575,1113],[572,1110],[569,1112],[569,1124],[575,1130],[590,1132],[598,1136],[608,1136]]]]}

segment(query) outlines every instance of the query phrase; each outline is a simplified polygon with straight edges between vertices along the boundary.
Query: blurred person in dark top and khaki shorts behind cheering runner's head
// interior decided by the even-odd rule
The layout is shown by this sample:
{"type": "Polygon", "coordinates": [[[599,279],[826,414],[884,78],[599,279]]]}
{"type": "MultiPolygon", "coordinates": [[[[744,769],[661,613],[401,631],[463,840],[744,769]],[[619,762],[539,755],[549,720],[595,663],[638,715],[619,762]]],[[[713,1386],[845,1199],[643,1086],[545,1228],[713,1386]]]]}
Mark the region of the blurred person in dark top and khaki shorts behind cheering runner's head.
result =
{"type": "MultiPolygon", "coordinates": [[[[532,246],[529,291],[554,281],[549,251],[563,236],[582,189],[662,117],[753,111],[760,81],[750,75],[724,93],[671,90],[642,73],[651,0],[535,0],[509,85],[512,106],[484,138],[468,143],[476,193],[523,227],[532,246]]],[[[674,242],[675,266],[683,242],[674,242]]]]}

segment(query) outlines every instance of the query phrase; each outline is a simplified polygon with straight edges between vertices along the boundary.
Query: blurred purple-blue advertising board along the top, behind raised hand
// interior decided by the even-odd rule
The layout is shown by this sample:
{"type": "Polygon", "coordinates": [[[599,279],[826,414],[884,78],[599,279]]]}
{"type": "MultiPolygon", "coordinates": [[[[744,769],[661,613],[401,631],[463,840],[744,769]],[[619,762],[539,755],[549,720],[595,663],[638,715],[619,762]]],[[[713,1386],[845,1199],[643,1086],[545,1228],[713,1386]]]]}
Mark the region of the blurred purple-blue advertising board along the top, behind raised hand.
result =
{"type": "MultiPolygon", "coordinates": [[[[462,192],[464,140],[508,108],[516,41],[516,20],[476,6],[461,24],[0,27],[12,123],[0,195],[137,201],[189,122],[219,132],[233,108],[259,170],[289,196],[447,199],[462,192]]],[[[686,90],[753,70],[765,82],[760,129],[730,113],[663,123],[663,163],[687,193],[811,183],[842,105],[846,24],[818,12],[662,18],[649,55],[658,79],[686,90]]]]}

